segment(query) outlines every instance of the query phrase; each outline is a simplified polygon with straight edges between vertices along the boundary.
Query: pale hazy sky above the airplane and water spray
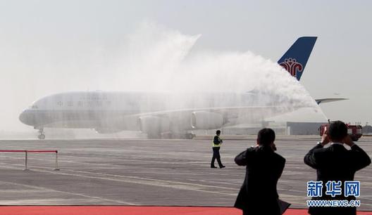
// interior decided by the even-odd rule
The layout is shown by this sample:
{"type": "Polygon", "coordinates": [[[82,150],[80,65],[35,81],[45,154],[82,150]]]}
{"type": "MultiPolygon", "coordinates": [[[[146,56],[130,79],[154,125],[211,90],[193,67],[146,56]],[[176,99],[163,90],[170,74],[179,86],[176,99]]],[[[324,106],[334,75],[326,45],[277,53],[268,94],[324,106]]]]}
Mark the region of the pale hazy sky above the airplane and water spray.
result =
{"type": "Polygon", "coordinates": [[[301,83],[326,117],[372,123],[372,1],[1,1],[0,130],[19,113],[71,90],[120,89],[128,35],[144,22],[198,37],[192,52],[246,52],[276,62],[302,36],[318,40],[301,83]]]}

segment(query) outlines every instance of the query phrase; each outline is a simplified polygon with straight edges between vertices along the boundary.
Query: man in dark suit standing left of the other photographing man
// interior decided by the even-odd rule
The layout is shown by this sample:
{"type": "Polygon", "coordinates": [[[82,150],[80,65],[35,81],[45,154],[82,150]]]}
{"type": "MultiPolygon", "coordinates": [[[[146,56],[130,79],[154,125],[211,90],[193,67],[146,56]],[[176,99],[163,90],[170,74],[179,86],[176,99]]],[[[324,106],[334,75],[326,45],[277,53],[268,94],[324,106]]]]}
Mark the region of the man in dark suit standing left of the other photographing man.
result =
{"type": "Polygon", "coordinates": [[[248,148],[235,157],[239,166],[247,166],[244,182],[234,207],[242,209],[243,215],[279,215],[276,184],[284,165],[284,157],[274,151],[275,132],[261,129],[256,147],[248,148]]]}

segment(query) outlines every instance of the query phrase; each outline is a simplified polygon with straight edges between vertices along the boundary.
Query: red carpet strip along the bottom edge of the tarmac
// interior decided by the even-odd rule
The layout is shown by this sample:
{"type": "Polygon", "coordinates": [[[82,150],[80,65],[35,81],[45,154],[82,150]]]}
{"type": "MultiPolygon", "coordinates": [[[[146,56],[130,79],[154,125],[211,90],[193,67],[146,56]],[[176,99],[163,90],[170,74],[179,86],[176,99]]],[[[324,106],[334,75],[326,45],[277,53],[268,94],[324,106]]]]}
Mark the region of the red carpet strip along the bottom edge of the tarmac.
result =
{"type": "MultiPolygon", "coordinates": [[[[241,215],[231,207],[131,207],[131,206],[2,206],[1,215],[241,215]]],[[[288,209],[285,215],[307,215],[306,209],[288,209]]],[[[359,211],[358,215],[372,215],[359,211]]]]}

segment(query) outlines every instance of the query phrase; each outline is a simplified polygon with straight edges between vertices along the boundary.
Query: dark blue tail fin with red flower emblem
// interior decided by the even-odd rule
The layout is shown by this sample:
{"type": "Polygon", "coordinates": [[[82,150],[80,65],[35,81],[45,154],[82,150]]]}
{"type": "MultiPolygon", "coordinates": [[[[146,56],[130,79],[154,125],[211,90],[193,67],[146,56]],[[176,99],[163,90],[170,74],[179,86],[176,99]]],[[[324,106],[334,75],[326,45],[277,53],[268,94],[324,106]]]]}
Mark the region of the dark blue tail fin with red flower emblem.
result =
{"type": "Polygon", "coordinates": [[[297,80],[301,79],[315,41],[316,37],[299,37],[284,56],[278,60],[278,64],[297,80]]]}

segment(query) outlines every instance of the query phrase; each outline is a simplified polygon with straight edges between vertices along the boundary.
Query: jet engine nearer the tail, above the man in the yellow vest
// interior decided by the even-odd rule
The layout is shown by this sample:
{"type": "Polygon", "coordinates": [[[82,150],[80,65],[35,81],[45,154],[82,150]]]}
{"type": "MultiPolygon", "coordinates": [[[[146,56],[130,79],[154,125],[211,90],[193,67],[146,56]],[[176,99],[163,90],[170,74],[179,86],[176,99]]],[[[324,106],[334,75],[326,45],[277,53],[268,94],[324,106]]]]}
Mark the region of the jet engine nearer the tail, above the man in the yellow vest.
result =
{"type": "Polygon", "coordinates": [[[218,129],[223,126],[223,115],[216,112],[197,111],[191,114],[193,129],[218,129]]]}

